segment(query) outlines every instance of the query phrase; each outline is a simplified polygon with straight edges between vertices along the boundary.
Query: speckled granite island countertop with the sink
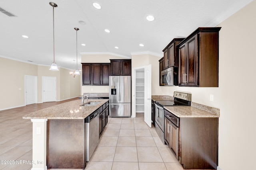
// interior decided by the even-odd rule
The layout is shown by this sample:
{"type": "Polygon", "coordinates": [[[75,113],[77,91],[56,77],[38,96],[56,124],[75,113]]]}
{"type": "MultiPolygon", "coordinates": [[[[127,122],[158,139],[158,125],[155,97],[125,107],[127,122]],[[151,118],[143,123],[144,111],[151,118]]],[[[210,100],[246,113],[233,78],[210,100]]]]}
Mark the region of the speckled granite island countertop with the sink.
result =
{"type": "MultiPolygon", "coordinates": [[[[55,106],[47,107],[24,115],[23,119],[85,119],[96,111],[108,99],[89,99],[88,102],[100,102],[96,106],[80,106],[81,100],[73,100],[55,106]]],[[[88,103],[84,100],[84,104],[88,103]]]]}

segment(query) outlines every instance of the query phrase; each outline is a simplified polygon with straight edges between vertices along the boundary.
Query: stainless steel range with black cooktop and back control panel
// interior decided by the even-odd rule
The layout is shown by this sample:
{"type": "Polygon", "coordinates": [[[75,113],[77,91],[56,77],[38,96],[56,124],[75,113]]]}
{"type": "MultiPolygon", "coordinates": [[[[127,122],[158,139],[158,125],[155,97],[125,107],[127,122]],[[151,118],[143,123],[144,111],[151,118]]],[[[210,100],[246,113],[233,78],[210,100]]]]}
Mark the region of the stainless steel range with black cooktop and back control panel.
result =
{"type": "Polygon", "coordinates": [[[155,101],[155,127],[158,136],[164,143],[164,106],[190,106],[191,94],[185,92],[174,92],[174,100],[155,101]]]}

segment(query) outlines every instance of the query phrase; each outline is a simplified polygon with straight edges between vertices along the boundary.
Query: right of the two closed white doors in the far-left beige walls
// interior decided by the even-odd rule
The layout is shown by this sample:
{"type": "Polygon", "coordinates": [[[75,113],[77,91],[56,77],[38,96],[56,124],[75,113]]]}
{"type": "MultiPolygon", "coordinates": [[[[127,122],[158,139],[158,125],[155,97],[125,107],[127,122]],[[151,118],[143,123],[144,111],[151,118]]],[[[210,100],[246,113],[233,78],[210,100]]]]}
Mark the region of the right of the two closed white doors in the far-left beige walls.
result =
{"type": "Polygon", "coordinates": [[[56,101],[56,77],[42,77],[43,102],[56,101]]]}

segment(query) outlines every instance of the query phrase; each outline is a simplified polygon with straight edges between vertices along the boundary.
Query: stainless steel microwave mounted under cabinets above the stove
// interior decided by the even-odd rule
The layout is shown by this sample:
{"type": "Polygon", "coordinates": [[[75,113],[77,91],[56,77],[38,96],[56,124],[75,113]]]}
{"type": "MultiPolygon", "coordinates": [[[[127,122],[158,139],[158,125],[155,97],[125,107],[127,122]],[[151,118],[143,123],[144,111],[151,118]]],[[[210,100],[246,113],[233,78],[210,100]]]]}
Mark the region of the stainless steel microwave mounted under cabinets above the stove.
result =
{"type": "Polygon", "coordinates": [[[170,67],[161,71],[161,86],[178,85],[178,67],[170,67]]]}

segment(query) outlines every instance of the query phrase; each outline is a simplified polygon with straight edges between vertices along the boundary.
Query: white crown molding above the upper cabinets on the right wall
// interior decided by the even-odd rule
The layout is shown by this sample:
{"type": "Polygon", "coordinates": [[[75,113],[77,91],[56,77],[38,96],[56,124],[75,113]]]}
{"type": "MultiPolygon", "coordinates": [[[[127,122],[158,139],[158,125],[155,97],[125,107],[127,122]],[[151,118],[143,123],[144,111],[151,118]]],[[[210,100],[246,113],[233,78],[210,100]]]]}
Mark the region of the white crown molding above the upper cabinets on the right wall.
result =
{"type": "Polygon", "coordinates": [[[240,4],[233,6],[230,10],[225,11],[224,13],[221,13],[219,16],[214,18],[212,21],[210,21],[208,24],[205,25],[205,27],[216,27],[220,23],[222,23],[224,20],[238,12],[240,9],[244,8],[247,4],[252,2],[253,0],[244,0],[241,1],[240,4]]]}

